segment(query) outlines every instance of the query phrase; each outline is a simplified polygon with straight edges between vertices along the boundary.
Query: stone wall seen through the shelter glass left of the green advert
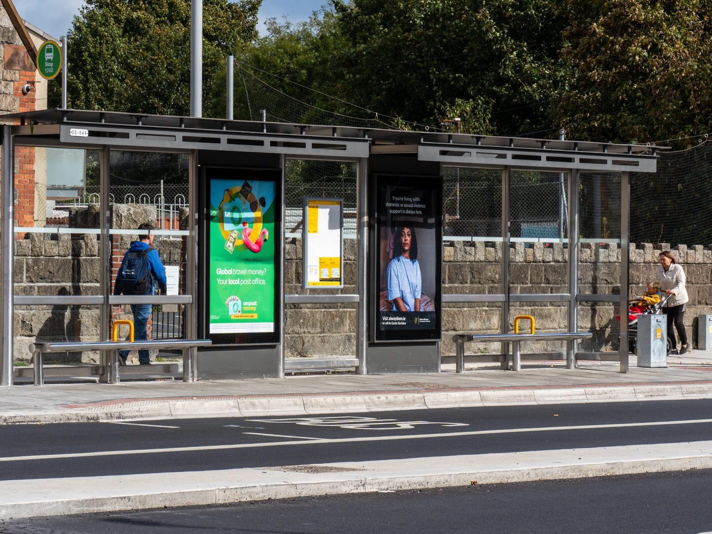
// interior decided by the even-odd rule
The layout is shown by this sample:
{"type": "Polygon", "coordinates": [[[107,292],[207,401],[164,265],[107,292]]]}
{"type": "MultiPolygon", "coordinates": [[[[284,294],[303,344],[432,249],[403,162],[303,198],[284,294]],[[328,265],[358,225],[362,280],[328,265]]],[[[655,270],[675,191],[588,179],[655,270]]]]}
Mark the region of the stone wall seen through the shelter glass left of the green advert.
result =
{"type": "MultiPolygon", "coordinates": [[[[135,229],[145,221],[156,220],[155,206],[140,204],[115,204],[112,206],[112,228],[135,229]]],[[[67,224],[70,228],[98,228],[98,206],[73,208],[67,224]]],[[[182,219],[185,221],[185,213],[182,219]]],[[[136,235],[112,236],[112,282],[121,258],[136,235]]],[[[155,247],[164,263],[183,267],[181,276],[184,290],[185,241],[169,240],[157,236],[155,247]]],[[[98,295],[100,276],[104,267],[99,258],[96,234],[32,234],[15,241],[15,295],[98,295]]],[[[164,307],[177,310],[177,306],[164,307]]],[[[129,306],[113,306],[112,320],[130,319],[129,306]]],[[[28,345],[39,341],[95,341],[100,335],[99,306],[40,305],[15,307],[16,360],[29,360],[28,345]]],[[[152,323],[148,323],[149,335],[152,323]]],[[[96,362],[98,353],[55,354],[48,361],[96,362]]]]}

